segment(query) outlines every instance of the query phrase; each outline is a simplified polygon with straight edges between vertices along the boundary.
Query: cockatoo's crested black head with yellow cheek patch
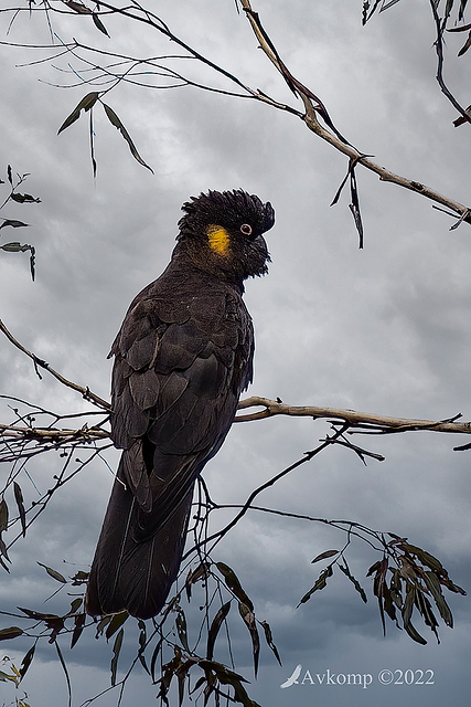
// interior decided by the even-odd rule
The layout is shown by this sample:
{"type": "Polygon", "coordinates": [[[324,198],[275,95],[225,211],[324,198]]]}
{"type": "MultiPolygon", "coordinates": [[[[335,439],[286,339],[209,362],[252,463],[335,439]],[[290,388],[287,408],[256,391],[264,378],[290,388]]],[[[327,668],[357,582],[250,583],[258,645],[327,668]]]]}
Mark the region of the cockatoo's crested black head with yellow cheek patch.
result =
{"type": "MultiPolygon", "coordinates": [[[[264,275],[270,260],[263,233],[275,223],[270,202],[240,189],[208,191],[183,204],[176,250],[194,264],[242,282],[264,275]]],[[[175,251],[176,252],[176,251],[175,251]]]]}

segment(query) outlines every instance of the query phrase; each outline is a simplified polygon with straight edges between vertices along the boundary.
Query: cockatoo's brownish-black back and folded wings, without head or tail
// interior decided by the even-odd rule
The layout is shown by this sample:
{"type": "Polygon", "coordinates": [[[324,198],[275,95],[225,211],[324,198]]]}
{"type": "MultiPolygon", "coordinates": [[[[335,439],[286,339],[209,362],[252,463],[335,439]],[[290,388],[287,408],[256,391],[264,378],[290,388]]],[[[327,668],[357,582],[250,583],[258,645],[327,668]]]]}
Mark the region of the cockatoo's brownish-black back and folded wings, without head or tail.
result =
{"type": "Polygon", "coordinates": [[[251,377],[251,351],[250,318],[227,287],[172,299],[157,285],[131,305],[111,349],[111,437],[125,450],[122,481],[147,537],[221,446],[251,377]]]}

